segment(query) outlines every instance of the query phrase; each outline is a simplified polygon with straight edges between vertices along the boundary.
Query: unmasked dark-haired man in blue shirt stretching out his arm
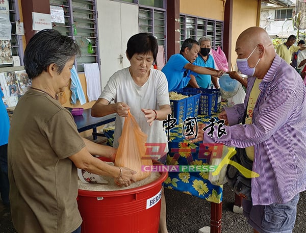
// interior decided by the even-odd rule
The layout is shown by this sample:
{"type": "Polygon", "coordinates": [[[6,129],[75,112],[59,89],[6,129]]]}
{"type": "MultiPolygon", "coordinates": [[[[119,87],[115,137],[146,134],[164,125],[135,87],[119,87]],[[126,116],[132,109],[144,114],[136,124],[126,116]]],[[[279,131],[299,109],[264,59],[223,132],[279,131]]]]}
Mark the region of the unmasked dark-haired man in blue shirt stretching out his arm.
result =
{"type": "Polygon", "coordinates": [[[189,38],[183,42],[180,54],[174,54],[170,57],[162,69],[168,81],[169,91],[184,88],[188,84],[192,87],[199,88],[194,76],[198,73],[218,77],[224,73],[222,70],[201,67],[195,63],[199,50],[199,43],[189,38]]]}

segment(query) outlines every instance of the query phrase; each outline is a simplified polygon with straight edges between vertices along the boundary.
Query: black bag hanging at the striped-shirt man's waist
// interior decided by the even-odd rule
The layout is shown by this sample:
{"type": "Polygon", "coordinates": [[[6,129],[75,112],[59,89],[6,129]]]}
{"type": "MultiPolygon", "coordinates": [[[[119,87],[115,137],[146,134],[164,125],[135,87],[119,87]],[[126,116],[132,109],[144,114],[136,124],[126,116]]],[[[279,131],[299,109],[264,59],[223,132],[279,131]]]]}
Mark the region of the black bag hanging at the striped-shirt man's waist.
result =
{"type": "MultiPolygon", "coordinates": [[[[249,160],[244,148],[236,148],[237,153],[231,158],[232,161],[241,164],[248,170],[252,170],[253,161],[249,160]]],[[[247,200],[251,200],[251,178],[246,178],[240,171],[228,164],[226,169],[226,179],[228,185],[233,188],[234,192],[247,200]]]]}

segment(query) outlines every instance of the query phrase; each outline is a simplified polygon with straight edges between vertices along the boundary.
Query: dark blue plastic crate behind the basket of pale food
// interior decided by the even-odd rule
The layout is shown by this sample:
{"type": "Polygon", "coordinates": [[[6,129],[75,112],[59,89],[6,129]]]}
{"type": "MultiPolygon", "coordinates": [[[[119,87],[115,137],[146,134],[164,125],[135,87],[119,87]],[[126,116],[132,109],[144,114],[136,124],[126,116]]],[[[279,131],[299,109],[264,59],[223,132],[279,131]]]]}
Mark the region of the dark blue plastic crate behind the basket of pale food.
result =
{"type": "Polygon", "coordinates": [[[183,88],[179,91],[201,93],[198,112],[199,115],[211,116],[213,112],[218,112],[219,105],[221,105],[220,89],[183,88]]]}

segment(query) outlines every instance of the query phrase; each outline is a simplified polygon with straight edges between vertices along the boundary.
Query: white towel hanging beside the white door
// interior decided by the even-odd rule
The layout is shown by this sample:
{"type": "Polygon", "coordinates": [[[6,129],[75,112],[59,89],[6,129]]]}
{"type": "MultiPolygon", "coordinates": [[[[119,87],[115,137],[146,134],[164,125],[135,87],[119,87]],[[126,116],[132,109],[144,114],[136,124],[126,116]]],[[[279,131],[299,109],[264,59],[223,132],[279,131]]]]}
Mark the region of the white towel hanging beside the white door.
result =
{"type": "Polygon", "coordinates": [[[88,101],[97,100],[101,94],[100,71],[98,63],[84,64],[88,101]]]}

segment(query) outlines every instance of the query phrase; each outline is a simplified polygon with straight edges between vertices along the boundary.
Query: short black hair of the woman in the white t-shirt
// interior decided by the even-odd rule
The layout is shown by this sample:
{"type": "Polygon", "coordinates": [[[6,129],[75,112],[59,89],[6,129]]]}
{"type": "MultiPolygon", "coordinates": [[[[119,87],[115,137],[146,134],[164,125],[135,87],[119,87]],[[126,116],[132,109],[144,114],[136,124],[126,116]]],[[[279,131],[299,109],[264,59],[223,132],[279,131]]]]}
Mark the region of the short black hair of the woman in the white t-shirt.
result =
{"type": "Polygon", "coordinates": [[[134,54],[147,54],[152,52],[154,61],[157,57],[157,39],[148,33],[138,33],[127,41],[126,56],[131,59],[134,54]]]}

